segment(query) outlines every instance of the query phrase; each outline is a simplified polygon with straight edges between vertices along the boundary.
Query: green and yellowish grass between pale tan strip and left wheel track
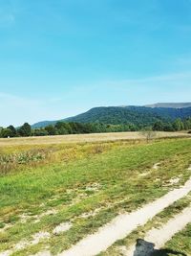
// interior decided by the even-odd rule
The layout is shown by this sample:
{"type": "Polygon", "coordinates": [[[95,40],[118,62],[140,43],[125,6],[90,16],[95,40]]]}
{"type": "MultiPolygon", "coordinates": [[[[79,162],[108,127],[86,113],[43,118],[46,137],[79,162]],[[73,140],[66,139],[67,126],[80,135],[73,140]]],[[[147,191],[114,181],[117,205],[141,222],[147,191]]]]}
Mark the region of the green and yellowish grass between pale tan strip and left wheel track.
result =
{"type": "MultiPolygon", "coordinates": [[[[122,211],[133,211],[140,205],[164,195],[165,186],[174,176],[182,175],[182,184],[190,175],[190,139],[165,139],[150,144],[113,142],[75,145],[35,146],[48,151],[41,161],[15,163],[0,177],[0,251],[11,248],[41,230],[52,233],[64,221],[72,228],[49,241],[27,247],[15,255],[28,255],[50,246],[53,254],[70,247],[122,211]],[[158,171],[155,163],[161,162],[158,171]],[[147,176],[140,174],[150,172],[147,176]],[[96,187],[96,189],[90,189],[96,187]],[[57,213],[33,222],[35,215],[50,209],[57,213]],[[81,215],[99,209],[95,216],[81,215]],[[20,222],[23,213],[31,215],[20,222]],[[33,217],[32,217],[33,216],[33,217]]],[[[23,146],[4,149],[1,154],[32,151],[23,146]]]]}

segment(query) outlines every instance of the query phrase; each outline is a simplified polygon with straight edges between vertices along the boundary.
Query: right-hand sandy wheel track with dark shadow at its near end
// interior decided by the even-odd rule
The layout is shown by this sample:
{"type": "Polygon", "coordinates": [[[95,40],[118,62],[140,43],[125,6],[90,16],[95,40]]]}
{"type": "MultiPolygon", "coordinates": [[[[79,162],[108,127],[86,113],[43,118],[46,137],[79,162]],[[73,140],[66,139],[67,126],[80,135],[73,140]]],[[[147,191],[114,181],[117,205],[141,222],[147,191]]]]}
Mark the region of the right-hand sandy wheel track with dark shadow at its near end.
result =
{"type": "Polygon", "coordinates": [[[191,207],[185,208],[180,214],[163,224],[159,229],[152,228],[144,237],[144,242],[136,246],[134,244],[125,251],[124,256],[136,255],[147,256],[155,249],[159,249],[180,232],[189,222],[191,222],[191,207]],[[152,246],[152,244],[153,246],[152,246]]]}

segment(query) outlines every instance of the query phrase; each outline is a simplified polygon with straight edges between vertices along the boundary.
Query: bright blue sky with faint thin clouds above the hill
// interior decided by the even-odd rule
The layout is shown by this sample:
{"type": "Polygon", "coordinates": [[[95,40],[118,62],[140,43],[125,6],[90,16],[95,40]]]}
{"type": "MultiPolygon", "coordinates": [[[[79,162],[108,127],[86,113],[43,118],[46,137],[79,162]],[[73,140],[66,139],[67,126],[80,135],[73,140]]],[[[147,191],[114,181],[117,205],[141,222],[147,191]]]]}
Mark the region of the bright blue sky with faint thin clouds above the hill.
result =
{"type": "Polygon", "coordinates": [[[191,101],[191,0],[0,0],[0,126],[191,101]]]}

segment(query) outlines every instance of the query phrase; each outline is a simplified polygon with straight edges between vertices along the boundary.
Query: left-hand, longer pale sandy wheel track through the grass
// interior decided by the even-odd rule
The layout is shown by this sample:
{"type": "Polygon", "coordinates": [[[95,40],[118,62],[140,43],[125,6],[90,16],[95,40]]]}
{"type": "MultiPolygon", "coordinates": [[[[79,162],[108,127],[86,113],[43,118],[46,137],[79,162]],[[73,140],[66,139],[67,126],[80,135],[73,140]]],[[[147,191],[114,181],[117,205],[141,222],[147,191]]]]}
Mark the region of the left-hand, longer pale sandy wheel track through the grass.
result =
{"type": "Polygon", "coordinates": [[[100,227],[95,234],[87,236],[71,249],[63,251],[59,256],[94,256],[106,250],[117,240],[125,238],[138,225],[145,224],[164,208],[185,197],[190,191],[191,178],[184,186],[169,192],[162,198],[145,205],[137,211],[117,216],[112,222],[100,227]]]}

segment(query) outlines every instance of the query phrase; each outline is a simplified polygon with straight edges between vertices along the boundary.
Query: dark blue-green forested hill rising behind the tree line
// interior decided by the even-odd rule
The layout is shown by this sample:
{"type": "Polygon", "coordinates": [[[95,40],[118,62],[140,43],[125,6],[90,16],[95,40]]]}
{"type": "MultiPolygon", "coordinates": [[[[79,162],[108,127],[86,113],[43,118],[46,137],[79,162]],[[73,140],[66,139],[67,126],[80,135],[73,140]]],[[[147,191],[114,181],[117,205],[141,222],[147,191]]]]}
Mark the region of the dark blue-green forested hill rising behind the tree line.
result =
{"type": "MultiPolygon", "coordinates": [[[[182,108],[173,107],[146,107],[146,106],[108,106],[95,107],[77,116],[59,120],[62,122],[103,123],[151,125],[159,120],[174,121],[177,118],[191,117],[191,106],[182,108]]],[[[58,121],[58,120],[57,120],[58,121]]],[[[54,125],[57,121],[44,121],[36,123],[32,128],[43,128],[54,125]]]]}

